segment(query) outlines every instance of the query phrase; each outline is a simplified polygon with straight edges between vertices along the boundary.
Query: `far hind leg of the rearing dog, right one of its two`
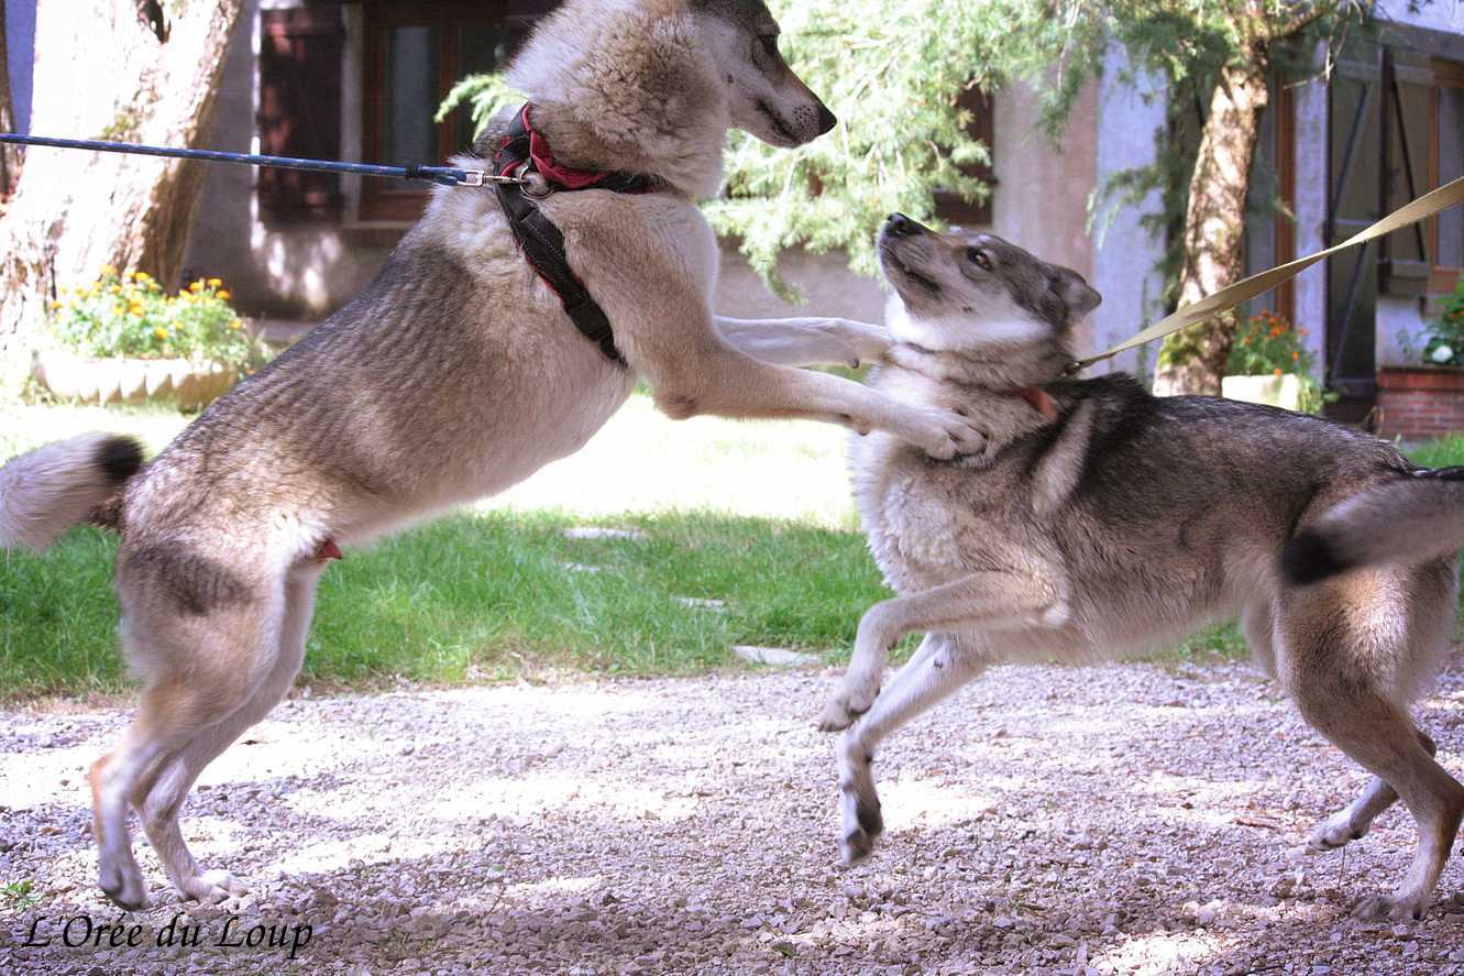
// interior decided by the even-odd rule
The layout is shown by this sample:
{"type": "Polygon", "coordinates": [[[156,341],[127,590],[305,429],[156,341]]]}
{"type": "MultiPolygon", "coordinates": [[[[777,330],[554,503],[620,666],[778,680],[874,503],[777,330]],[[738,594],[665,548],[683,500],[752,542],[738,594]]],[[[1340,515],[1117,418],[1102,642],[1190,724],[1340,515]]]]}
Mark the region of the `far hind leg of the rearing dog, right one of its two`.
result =
{"type": "Polygon", "coordinates": [[[243,894],[246,887],[223,869],[202,870],[179,827],[179,810],[193,783],[209,762],[217,759],[250,725],[259,722],[290,690],[305,659],[305,639],[315,605],[315,586],[321,563],[307,563],[291,570],[285,582],[284,618],[274,667],[258,683],[247,700],[223,721],[201,731],[187,746],[174,753],[160,774],[139,794],[135,806],[142,816],[148,841],[168,872],[168,879],[180,894],[199,901],[221,901],[231,894],[243,894]]]}

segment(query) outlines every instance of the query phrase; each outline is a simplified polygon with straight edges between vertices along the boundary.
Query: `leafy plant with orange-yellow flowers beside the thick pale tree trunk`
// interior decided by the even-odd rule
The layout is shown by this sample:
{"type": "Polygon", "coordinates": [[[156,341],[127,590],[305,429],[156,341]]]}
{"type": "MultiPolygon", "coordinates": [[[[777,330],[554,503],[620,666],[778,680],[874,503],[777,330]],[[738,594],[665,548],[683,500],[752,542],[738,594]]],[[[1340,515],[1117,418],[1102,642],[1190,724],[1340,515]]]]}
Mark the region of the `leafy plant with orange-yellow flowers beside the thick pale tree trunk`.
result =
{"type": "Polygon", "coordinates": [[[264,362],[264,347],[244,331],[218,278],[199,278],[167,295],[145,271],[119,274],[105,267],[95,281],[69,295],[51,303],[51,330],[83,356],[190,359],[237,372],[264,362]]]}

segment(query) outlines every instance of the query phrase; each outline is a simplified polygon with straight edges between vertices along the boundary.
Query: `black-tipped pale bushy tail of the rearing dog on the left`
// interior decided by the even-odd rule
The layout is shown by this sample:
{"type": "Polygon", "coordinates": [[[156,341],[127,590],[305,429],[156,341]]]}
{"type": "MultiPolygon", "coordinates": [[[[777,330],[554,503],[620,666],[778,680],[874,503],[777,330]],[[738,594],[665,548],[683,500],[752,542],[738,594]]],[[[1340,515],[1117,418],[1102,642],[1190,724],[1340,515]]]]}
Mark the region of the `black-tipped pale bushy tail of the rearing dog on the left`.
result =
{"type": "Polygon", "coordinates": [[[142,467],[130,437],[82,434],[12,457],[0,467],[0,548],[37,552],[78,522],[117,528],[119,489],[142,467]]]}

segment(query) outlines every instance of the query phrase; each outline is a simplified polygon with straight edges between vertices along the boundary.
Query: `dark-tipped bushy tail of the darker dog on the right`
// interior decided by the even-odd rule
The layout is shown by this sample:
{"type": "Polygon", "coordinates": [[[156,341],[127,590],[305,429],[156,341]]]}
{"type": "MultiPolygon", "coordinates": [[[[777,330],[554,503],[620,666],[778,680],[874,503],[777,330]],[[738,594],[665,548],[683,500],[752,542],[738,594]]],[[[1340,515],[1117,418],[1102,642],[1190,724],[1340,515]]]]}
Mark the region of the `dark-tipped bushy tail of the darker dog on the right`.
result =
{"type": "Polygon", "coordinates": [[[1347,498],[1287,542],[1291,583],[1360,566],[1423,563],[1464,547],[1464,467],[1420,470],[1347,498]]]}

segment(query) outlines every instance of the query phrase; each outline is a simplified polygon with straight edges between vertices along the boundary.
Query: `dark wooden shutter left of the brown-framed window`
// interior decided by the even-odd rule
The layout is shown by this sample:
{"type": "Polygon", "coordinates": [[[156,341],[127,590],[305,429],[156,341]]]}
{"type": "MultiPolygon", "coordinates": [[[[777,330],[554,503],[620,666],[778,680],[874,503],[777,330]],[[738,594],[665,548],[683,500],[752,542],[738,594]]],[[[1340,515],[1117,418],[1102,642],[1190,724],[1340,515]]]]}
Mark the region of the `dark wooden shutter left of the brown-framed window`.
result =
{"type": "MultiPolygon", "coordinates": [[[[337,4],[262,10],[259,42],[259,151],[338,160],[341,155],[341,48],[337,4]]],[[[338,220],[334,173],[261,169],[259,214],[266,224],[338,220]]]]}

